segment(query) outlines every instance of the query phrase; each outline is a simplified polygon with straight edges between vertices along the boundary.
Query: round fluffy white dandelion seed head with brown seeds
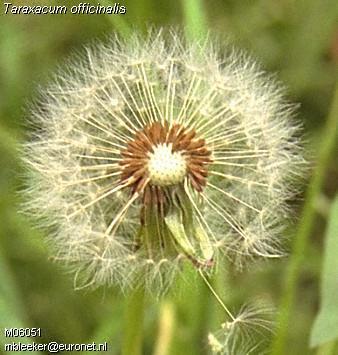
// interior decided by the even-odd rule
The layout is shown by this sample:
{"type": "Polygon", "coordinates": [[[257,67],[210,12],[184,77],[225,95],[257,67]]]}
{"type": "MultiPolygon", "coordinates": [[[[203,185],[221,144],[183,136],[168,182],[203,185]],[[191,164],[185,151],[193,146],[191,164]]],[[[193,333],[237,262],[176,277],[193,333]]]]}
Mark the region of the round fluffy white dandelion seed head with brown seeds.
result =
{"type": "Polygon", "coordinates": [[[182,262],[278,256],[303,163],[292,112],[210,37],[113,38],[43,90],[25,209],[83,285],[162,292],[182,262]]]}

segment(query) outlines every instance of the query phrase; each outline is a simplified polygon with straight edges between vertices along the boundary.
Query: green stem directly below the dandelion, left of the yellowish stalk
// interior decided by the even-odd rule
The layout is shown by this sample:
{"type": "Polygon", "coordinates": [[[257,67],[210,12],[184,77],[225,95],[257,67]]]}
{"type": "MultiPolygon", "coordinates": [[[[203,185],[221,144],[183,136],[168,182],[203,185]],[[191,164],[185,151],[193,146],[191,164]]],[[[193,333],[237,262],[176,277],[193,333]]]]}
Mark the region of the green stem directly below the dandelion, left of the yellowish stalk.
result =
{"type": "Polygon", "coordinates": [[[141,355],[144,315],[144,290],[136,289],[125,303],[122,355],[141,355]]]}

